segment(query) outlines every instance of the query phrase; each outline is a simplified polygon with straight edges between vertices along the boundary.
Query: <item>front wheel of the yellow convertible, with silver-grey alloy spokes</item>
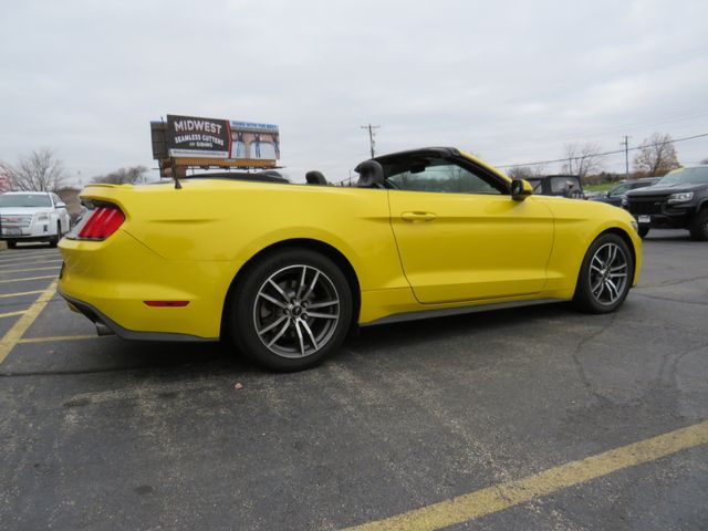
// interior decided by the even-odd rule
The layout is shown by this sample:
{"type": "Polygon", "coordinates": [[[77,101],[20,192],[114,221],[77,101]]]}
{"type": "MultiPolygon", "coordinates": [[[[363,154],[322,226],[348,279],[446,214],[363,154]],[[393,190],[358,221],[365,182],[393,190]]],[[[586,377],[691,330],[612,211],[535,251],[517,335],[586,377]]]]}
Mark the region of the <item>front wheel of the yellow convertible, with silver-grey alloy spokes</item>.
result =
{"type": "Polygon", "coordinates": [[[632,285],[634,260],[617,235],[602,235],[587,249],[575,287],[573,303],[589,313],[614,312],[632,285]]]}

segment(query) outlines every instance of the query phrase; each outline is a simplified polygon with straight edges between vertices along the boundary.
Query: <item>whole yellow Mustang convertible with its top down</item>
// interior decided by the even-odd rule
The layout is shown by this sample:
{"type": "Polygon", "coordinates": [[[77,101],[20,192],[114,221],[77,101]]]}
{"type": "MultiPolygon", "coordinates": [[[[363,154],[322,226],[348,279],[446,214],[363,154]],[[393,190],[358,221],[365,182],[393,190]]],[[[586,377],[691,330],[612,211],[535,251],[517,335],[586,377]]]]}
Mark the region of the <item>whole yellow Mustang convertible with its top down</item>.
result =
{"type": "Polygon", "coordinates": [[[230,339],[296,371],[352,327],[573,301],[616,310],[638,280],[632,216],[533,196],[472,155],[431,147],[360,164],[356,187],[271,174],[91,185],[60,244],[59,289],[129,340],[230,339]]]}

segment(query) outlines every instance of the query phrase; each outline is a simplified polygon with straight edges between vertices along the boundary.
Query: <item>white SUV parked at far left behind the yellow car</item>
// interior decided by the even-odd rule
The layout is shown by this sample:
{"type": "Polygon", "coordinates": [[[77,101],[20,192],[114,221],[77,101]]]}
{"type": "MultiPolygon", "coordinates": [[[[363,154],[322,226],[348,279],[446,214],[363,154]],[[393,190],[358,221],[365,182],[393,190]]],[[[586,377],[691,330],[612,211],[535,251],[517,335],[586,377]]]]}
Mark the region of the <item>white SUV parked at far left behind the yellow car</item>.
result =
{"type": "Polygon", "coordinates": [[[48,241],[56,247],[69,232],[66,205],[51,191],[7,191],[0,194],[0,240],[9,248],[18,241],[48,241]]]}

